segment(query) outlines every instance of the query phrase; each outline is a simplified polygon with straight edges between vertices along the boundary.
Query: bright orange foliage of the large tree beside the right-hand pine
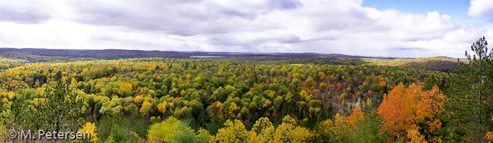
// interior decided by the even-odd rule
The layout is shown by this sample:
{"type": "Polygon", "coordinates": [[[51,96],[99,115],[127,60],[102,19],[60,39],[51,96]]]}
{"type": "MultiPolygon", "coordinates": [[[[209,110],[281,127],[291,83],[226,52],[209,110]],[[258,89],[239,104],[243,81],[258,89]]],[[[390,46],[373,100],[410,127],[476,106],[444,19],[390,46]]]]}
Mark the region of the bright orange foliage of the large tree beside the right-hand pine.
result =
{"type": "Polygon", "coordinates": [[[425,123],[430,132],[442,123],[435,118],[444,111],[445,95],[437,86],[422,91],[418,84],[407,89],[401,83],[384,96],[379,106],[379,115],[384,118],[384,130],[391,130],[400,136],[404,130],[419,130],[418,123],[425,123]]]}

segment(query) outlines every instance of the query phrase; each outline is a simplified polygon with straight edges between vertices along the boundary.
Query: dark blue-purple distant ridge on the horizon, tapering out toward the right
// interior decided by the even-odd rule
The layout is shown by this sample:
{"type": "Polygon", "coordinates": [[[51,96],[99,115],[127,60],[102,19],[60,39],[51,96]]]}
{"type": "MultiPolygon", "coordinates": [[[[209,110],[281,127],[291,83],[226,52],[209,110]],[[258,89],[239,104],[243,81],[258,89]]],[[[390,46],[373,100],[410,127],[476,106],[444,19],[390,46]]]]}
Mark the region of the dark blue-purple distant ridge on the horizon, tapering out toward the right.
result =
{"type": "MultiPolygon", "coordinates": [[[[75,49],[14,49],[0,48],[0,56],[4,58],[20,58],[18,56],[60,56],[59,60],[65,58],[95,58],[95,59],[118,59],[118,58],[188,58],[190,56],[277,56],[284,58],[378,58],[367,56],[351,56],[343,54],[316,54],[316,53],[240,53],[240,52],[207,52],[207,51],[141,51],[123,49],[104,50],[75,50],[75,49]],[[65,58],[64,58],[65,57],[65,58]]],[[[31,57],[33,58],[33,57],[31,57]]],[[[24,58],[21,58],[24,59],[24,58]]],[[[32,61],[32,59],[25,59],[32,61]]]]}

